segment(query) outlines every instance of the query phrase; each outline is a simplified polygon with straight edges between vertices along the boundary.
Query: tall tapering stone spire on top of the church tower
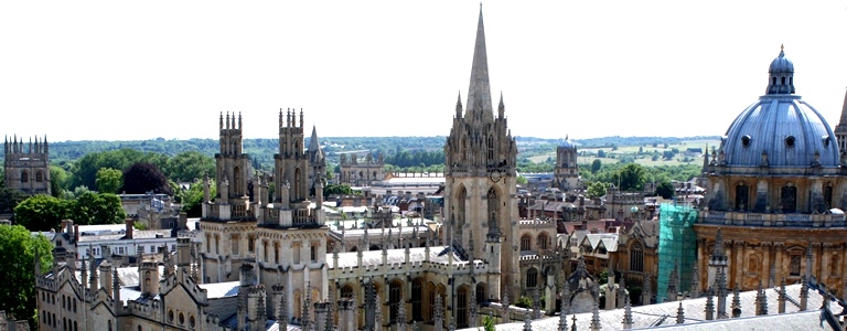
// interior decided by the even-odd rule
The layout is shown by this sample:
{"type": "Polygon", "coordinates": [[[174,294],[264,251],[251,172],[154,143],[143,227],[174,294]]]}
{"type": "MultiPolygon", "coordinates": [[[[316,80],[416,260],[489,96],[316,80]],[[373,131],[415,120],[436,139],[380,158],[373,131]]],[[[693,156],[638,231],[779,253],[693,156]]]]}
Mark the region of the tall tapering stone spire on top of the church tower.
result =
{"type": "Polygon", "coordinates": [[[491,86],[489,85],[489,56],[485,51],[485,28],[482,24],[482,4],[480,4],[480,21],[476,23],[476,44],[473,47],[473,66],[471,67],[471,85],[468,88],[468,104],[464,116],[484,116],[493,118],[491,107],[491,86]]]}

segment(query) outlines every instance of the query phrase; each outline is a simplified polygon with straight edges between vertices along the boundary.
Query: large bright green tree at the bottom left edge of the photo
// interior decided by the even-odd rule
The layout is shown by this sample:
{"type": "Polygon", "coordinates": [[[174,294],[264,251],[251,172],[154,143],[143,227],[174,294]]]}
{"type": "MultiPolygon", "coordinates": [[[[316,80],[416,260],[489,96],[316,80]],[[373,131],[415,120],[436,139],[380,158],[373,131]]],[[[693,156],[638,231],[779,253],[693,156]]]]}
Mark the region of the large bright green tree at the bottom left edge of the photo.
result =
{"type": "Polygon", "coordinates": [[[33,236],[20,225],[0,225],[0,310],[28,319],[36,324],[35,311],[35,252],[40,270],[49,273],[53,265],[52,244],[44,235],[33,236]]]}

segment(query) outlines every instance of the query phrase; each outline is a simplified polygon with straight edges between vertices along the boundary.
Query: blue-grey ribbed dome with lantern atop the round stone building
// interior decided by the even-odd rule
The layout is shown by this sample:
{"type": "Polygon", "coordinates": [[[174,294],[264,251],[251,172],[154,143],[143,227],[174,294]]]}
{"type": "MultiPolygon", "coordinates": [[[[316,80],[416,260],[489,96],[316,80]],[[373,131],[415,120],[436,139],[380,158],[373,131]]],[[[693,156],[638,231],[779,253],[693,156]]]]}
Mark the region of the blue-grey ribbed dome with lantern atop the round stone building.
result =
{"type": "Polygon", "coordinates": [[[726,166],[838,167],[835,134],[823,116],[794,94],[794,65],[785,52],[771,62],[768,93],[729,126],[726,166]]]}

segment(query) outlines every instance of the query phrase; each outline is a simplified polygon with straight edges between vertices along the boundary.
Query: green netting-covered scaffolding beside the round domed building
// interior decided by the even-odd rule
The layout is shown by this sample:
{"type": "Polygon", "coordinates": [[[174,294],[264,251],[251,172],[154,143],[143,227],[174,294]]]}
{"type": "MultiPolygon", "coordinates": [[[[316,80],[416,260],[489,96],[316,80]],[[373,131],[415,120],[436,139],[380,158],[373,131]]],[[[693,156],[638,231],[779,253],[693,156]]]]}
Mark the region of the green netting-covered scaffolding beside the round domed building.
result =
{"type": "Polygon", "coordinates": [[[678,270],[677,292],[685,292],[690,287],[691,270],[697,263],[697,236],[694,233],[697,210],[688,204],[663,203],[658,222],[656,302],[664,302],[668,300],[667,285],[674,268],[678,270]]]}

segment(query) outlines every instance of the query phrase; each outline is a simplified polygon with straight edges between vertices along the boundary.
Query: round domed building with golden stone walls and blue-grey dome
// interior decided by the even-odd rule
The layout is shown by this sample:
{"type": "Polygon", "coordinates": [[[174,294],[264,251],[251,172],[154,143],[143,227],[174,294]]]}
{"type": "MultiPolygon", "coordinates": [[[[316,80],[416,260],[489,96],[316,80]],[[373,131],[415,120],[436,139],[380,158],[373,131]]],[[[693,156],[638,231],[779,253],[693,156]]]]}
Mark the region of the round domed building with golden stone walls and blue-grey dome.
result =
{"type": "Polygon", "coordinates": [[[780,51],[765,94],[706,156],[708,194],[694,225],[701,291],[716,277],[751,290],[812,275],[845,295],[845,158],[824,117],[794,93],[794,64],[780,51]]]}

